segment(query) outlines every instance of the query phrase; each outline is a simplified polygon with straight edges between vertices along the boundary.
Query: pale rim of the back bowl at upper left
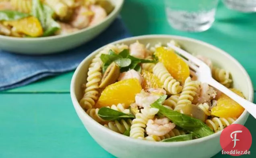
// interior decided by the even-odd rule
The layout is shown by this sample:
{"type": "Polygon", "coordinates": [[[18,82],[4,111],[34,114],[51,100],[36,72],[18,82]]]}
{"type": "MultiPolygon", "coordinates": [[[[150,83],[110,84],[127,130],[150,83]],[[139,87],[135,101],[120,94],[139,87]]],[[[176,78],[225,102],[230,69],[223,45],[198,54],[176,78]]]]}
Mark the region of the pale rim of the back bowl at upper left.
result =
{"type": "Polygon", "coordinates": [[[16,41],[40,41],[40,40],[48,40],[48,39],[57,39],[57,38],[61,38],[61,37],[70,37],[73,35],[77,35],[79,33],[89,31],[89,30],[91,30],[95,27],[98,27],[99,25],[107,22],[112,16],[115,16],[116,14],[118,14],[118,12],[121,10],[123,5],[124,5],[124,0],[116,1],[114,10],[109,15],[107,15],[107,17],[104,18],[103,21],[101,21],[97,25],[89,26],[84,29],[75,31],[73,33],[64,34],[64,35],[54,35],[54,36],[48,36],[48,37],[33,37],[33,38],[10,37],[10,36],[5,36],[5,35],[0,35],[0,39],[8,39],[8,40],[16,40],[16,41]]]}

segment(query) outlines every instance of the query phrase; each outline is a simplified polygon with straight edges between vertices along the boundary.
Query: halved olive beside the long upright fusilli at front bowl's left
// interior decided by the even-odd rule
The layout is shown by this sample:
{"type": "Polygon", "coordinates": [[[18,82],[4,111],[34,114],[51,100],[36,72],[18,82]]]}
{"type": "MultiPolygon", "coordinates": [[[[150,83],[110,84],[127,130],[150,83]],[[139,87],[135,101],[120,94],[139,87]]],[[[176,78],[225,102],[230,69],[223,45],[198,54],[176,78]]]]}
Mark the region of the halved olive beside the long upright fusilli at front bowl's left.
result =
{"type": "Polygon", "coordinates": [[[106,86],[115,83],[119,75],[120,75],[119,66],[116,65],[115,62],[111,63],[107,67],[107,70],[105,71],[105,73],[103,74],[99,88],[105,88],[106,86]]]}

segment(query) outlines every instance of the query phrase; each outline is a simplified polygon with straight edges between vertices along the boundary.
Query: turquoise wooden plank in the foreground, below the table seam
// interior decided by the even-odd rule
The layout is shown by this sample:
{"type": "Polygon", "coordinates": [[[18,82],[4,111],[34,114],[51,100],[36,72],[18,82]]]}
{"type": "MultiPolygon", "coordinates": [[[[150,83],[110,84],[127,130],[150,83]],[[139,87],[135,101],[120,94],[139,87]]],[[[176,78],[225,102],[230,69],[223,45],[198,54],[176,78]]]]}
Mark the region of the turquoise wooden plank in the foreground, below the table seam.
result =
{"type": "MultiPolygon", "coordinates": [[[[0,101],[1,158],[114,158],[86,131],[69,94],[0,94],[0,101]]],[[[254,124],[250,116],[245,126],[252,137],[254,124]]]]}

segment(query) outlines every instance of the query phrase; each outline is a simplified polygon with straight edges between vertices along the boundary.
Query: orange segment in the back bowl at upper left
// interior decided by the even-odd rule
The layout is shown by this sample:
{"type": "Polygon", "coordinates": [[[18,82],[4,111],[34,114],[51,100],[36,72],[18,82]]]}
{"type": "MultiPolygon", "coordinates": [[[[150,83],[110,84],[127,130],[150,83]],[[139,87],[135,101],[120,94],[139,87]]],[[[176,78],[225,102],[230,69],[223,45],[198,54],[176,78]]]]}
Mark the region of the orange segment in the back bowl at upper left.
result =
{"type": "Polygon", "coordinates": [[[24,33],[31,37],[39,37],[43,35],[43,28],[39,20],[33,16],[22,18],[17,21],[6,21],[6,25],[15,27],[18,32],[24,33]]]}

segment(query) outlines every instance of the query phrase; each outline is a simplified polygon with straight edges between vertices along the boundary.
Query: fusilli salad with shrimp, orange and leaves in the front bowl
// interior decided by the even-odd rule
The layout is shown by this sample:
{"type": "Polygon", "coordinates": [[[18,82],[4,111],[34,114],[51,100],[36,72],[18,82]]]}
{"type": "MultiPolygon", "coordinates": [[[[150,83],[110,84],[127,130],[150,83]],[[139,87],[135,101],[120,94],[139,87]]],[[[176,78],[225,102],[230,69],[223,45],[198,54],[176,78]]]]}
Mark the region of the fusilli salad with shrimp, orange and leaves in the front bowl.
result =
{"type": "MultiPolygon", "coordinates": [[[[91,61],[80,105],[95,121],[128,137],[156,142],[197,139],[221,131],[244,108],[196,73],[167,45],[107,45],[91,61]]],[[[215,80],[232,88],[231,74],[197,55],[215,80]]],[[[244,96],[243,96],[244,97],[244,96]]]]}

